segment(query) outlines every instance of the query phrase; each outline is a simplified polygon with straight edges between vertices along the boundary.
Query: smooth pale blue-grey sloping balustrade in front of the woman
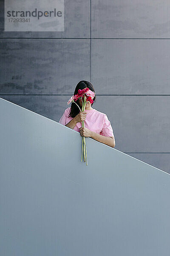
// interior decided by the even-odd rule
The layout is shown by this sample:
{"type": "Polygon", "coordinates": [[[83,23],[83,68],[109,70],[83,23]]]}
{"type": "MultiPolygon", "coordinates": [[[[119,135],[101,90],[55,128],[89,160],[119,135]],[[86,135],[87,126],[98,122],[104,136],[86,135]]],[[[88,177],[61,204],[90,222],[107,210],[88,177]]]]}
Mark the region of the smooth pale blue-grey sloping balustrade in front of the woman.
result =
{"type": "Polygon", "coordinates": [[[170,175],[0,99],[0,254],[169,256],[170,175]]]}

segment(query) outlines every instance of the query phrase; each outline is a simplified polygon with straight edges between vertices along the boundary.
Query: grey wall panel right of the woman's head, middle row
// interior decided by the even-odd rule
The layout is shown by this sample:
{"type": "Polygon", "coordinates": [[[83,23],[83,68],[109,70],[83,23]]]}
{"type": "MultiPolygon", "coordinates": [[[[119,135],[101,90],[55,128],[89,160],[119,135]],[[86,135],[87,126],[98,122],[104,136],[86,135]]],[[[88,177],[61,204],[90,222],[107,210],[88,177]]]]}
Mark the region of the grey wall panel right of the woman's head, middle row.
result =
{"type": "Polygon", "coordinates": [[[170,40],[92,40],[100,94],[170,94],[170,40]]]}

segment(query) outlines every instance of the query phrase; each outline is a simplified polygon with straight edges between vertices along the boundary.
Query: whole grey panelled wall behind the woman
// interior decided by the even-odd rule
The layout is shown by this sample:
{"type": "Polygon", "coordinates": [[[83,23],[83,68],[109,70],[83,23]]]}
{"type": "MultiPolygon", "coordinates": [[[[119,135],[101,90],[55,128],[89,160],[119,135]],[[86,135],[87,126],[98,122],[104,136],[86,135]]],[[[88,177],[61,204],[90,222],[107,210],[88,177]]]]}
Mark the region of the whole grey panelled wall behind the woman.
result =
{"type": "Polygon", "coordinates": [[[0,97],[59,121],[94,84],[116,147],[170,173],[170,14],[164,0],[65,0],[64,32],[4,32],[0,97]]]}

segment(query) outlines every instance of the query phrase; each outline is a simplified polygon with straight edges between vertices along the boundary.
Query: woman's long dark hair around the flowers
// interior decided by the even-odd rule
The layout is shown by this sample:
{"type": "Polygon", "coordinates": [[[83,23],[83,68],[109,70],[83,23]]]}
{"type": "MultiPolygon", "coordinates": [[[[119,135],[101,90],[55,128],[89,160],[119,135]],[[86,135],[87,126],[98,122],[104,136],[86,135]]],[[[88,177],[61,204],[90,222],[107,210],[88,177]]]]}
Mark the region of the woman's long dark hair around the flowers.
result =
{"type": "MultiPolygon", "coordinates": [[[[78,84],[77,84],[77,86],[76,86],[76,88],[75,88],[75,90],[74,90],[74,95],[76,95],[76,94],[78,93],[78,90],[79,90],[79,89],[82,90],[82,89],[84,89],[84,88],[86,88],[86,87],[88,87],[92,92],[95,93],[93,84],[91,84],[91,82],[89,82],[89,81],[82,80],[82,81],[79,81],[79,82],[78,82],[78,84]]],[[[94,97],[93,100],[94,100],[94,102],[96,102],[96,95],[95,95],[95,97],[94,97]]],[[[91,106],[94,104],[94,102],[91,104],[91,106]]],[[[77,103],[77,105],[79,105],[79,104],[78,104],[78,101],[76,101],[76,103],[77,103]]],[[[78,115],[78,113],[80,112],[80,110],[79,110],[79,108],[77,107],[77,105],[76,105],[74,102],[71,103],[71,110],[70,110],[70,113],[69,113],[68,117],[70,117],[70,116],[71,116],[71,117],[75,117],[75,116],[78,115]]],[[[79,106],[79,107],[80,107],[80,106],[79,106]]],[[[81,108],[80,108],[80,109],[81,109],[81,108]]]]}

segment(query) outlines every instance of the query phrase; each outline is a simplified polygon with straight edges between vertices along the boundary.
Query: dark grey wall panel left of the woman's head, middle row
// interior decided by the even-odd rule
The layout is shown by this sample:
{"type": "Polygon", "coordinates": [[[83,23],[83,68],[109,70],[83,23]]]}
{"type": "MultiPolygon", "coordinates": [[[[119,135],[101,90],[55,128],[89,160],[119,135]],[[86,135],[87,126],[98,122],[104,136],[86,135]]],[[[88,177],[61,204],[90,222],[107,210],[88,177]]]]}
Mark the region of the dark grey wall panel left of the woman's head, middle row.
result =
{"type": "Polygon", "coordinates": [[[89,47],[84,39],[1,39],[0,93],[71,92],[90,78],[89,47]]]}

